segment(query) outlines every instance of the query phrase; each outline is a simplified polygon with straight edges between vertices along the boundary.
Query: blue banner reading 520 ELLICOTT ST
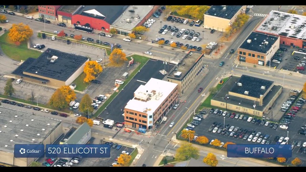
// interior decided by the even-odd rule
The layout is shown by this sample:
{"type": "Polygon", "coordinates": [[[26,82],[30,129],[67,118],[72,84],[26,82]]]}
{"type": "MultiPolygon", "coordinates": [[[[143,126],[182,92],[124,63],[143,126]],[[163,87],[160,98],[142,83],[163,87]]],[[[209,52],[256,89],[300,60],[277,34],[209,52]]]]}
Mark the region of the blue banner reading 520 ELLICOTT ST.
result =
{"type": "Polygon", "coordinates": [[[81,155],[84,158],[109,158],[109,144],[58,144],[46,145],[46,157],[73,158],[81,155]]]}

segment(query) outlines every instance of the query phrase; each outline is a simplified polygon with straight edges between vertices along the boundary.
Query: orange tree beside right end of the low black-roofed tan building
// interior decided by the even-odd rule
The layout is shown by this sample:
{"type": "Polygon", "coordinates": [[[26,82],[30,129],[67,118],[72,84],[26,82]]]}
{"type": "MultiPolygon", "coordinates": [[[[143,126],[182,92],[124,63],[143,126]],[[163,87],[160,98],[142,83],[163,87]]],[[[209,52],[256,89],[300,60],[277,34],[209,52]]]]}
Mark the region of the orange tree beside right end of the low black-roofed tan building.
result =
{"type": "Polygon", "coordinates": [[[102,66],[96,61],[87,61],[84,66],[86,77],[84,82],[88,83],[96,78],[96,75],[102,72],[102,66]]]}

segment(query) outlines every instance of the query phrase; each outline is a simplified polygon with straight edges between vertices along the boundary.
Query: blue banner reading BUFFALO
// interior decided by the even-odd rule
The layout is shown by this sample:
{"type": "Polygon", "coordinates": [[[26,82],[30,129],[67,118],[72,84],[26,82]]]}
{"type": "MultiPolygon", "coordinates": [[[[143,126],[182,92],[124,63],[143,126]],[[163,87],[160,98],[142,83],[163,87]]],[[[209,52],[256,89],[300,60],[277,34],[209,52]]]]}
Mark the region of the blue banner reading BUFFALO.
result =
{"type": "Polygon", "coordinates": [[[290,158],[292,147],[290,144],[229,144],[227,157],[230,158],[290,158]]]}

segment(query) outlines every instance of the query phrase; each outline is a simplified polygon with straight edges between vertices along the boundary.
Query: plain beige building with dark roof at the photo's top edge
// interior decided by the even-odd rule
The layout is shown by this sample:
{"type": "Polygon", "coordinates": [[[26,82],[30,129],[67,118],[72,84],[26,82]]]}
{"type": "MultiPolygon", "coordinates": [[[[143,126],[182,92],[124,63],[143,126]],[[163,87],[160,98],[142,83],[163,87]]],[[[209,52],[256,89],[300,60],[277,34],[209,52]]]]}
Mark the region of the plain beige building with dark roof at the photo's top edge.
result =
{"type": "Polygon", "coordinates": [[[204,14],[204,28],[225,32],[239,14],[245,13],[245,5],[213,5],[204,14]]]}

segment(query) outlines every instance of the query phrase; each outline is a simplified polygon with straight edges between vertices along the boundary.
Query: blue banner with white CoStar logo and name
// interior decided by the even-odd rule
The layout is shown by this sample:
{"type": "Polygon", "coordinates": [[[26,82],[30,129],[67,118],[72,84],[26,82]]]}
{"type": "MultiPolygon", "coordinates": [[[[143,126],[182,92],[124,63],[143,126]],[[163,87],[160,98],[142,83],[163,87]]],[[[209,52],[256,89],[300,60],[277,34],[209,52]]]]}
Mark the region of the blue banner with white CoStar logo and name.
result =
{"type": "Polygon", "coordinates": [[[41,158],[44,157],[43,144],[15,144],[15,158],[41,158]]]}

